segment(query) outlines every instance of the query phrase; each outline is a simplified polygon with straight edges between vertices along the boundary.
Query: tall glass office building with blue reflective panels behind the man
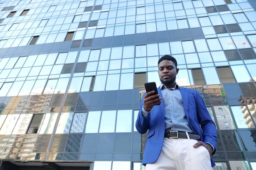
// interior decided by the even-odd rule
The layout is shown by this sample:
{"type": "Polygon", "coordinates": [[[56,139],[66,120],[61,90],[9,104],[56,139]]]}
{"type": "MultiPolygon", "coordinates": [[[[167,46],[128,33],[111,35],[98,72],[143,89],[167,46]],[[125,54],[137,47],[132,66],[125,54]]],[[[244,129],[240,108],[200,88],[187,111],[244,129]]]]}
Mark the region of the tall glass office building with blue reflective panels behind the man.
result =
{"type": "Polygon", "coordinates": [[[216,123],[213,170],[256,170],[256,0],[0,0],[0,170],[142,170],[145,82],[216,123]]]}

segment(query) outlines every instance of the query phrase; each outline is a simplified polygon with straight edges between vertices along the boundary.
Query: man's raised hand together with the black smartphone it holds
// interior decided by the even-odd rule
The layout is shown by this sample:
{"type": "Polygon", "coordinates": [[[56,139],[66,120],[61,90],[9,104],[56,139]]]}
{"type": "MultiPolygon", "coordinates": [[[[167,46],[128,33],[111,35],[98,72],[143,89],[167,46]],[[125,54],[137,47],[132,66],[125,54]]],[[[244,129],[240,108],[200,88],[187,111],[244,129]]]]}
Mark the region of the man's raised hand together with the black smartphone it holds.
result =
{"type": "Polygon", "coordinates": [[[162,103],[162,98],[159,98],[160,95],[157,93],[155,82],[145,83],[145,88],[147,93],[143,99],[144,109],[150,111],[153,106],[162,103]]]}

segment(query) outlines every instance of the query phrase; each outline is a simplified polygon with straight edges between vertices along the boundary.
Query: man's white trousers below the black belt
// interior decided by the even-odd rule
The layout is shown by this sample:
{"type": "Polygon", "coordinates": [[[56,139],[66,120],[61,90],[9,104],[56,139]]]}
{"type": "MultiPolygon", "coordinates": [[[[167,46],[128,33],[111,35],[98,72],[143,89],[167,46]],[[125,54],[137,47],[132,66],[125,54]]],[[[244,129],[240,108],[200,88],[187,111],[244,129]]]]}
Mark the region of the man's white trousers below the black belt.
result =
{"type": "Polygon", "coordinates": [[[164,145],[155,163],[146,170],[212,170],[211,157],[204,146],[194,148],[195,139],[164,138],[164,145]]]}

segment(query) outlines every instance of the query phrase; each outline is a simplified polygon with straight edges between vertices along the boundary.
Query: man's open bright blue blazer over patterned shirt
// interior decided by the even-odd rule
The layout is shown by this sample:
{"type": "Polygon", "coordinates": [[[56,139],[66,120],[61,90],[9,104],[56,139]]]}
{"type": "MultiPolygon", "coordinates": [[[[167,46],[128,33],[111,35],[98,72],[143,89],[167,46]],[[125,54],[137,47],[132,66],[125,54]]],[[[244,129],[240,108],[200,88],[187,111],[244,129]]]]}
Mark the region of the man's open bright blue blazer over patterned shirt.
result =
{"type": "MultiPolygon", "coordinates": [[[[157,91],[160,98],[162,98],[160,87],[157,88],[157,91]]],[[[204,100],[198,91],[190,88],[180,87],[180,93],[182,95],[186,118],[190,127],[192,128],[194,134],[200,136],[200,141],[203,141],[204,143],[209,142],[215,147],[215,150],[213,151],[214,154],[217,148],[216,126],[209,115],[209,112],[204,104],[204,100]]],[[[146,95],[146,93],[144,95],[146,95]]],[[[142,99],[144,98],[144,95],[142,99]]],[[[142,161],[142,164],[145,166],[146,163],[154,163],[157,161],[160,155],[164,143],[165,119],[163,102],[160,105],[154,106],[146,118],[142,116],[142,107],[143,101],[141,101],[140,110],[136,121],[136,128],[141,134],[148,131],[142,161]]],[[[215,166],[212,158],[211,166],[215,166]]]]}

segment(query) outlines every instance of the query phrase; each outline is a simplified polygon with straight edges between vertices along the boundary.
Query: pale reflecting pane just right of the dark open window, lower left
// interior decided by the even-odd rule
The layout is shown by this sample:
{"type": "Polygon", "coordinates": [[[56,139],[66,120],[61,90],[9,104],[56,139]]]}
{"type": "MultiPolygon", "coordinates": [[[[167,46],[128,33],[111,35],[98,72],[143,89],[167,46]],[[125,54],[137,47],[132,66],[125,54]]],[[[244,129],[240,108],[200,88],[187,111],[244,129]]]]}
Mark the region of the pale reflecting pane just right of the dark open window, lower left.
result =
{"type": "Polygon", "coordinates": [[[58,113],[46,113],[38,129],[39,134],[52,134],[58,113]]]}

